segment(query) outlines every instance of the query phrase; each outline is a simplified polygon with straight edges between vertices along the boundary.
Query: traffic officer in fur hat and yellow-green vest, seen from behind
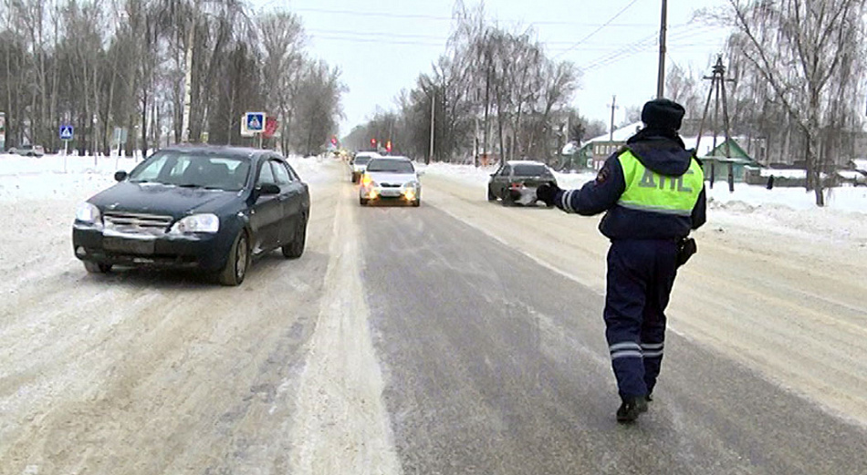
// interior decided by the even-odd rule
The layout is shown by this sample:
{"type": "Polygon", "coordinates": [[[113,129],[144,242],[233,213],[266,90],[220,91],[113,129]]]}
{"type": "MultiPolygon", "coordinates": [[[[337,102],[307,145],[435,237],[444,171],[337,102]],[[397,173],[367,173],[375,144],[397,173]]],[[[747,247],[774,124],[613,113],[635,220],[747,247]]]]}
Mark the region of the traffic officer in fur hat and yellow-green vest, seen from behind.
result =
{"type": "Polygon", "coordinates": [[[705,178],[677,130],[684,108],[655,99],[642,108],[644,128],[605,161],[580,190],[539,187],[537,196],[564,212],[606,212],[611,239],[604,318],[622,405],[619,422],[647,410],[663,360],[665,307],[679,264],[695,253],[687,240],[705,223],[705,178]]]}

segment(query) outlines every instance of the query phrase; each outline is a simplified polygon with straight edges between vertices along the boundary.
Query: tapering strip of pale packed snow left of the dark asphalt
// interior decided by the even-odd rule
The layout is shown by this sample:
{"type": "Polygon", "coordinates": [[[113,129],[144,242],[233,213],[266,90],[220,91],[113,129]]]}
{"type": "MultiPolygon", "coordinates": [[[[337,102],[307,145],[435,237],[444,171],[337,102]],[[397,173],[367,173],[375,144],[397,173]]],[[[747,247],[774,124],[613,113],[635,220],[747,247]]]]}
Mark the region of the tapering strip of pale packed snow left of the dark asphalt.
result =
{"type": "Polygon", "coordinates": [[[325,294],[299,379],[292,473],[401,473],[360,278],[354,188],[340,194],[325,294]]]}

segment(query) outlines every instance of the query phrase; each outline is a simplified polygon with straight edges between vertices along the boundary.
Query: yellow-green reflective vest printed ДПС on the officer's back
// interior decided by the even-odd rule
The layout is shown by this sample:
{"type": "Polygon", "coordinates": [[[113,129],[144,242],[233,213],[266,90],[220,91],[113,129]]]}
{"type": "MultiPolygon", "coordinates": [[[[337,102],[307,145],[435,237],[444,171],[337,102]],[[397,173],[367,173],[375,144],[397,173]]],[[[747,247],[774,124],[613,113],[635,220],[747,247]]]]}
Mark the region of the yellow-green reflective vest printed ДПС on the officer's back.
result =
{"type": "Polygon", "coordinates": [[[682,176],[670,177],[645,167],[631,150],[620,154],[626,190],[617,204],[623,208],[690,216],[705,184],[705,173],[698,160],[691,159],[682,176]]]}

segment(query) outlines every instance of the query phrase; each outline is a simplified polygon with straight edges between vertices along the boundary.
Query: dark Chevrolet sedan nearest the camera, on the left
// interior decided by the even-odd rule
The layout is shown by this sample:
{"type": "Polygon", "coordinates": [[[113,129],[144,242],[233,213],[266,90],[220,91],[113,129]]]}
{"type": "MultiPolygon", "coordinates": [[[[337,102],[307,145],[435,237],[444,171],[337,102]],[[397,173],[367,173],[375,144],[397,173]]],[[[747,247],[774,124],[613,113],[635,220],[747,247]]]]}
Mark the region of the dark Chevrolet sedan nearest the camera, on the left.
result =
{"type": "Polygon", "coordinates": [[[308,185],[275,152],[172,147],[115,179],[76,212],[73,249],[90,273],[192,268],[238,285],[252,257],[304,252],[308,185]]]}

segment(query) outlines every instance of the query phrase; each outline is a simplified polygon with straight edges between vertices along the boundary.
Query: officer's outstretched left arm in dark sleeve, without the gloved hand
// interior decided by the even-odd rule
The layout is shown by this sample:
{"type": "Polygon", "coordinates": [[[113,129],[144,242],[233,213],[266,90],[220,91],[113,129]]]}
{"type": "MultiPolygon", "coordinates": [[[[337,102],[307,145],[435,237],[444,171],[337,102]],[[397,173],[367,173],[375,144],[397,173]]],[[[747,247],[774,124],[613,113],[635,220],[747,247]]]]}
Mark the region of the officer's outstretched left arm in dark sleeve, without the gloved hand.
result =
{"type": "Polygon", "coordinates": [[[605,160],[595,181],[590,181],[580,190],[558,193],[554,204],[564,212],[577,212],[582,216],[592,216],[611,209],[626,190],[623,168],[617,155],[615,153],[605,160]]]}

